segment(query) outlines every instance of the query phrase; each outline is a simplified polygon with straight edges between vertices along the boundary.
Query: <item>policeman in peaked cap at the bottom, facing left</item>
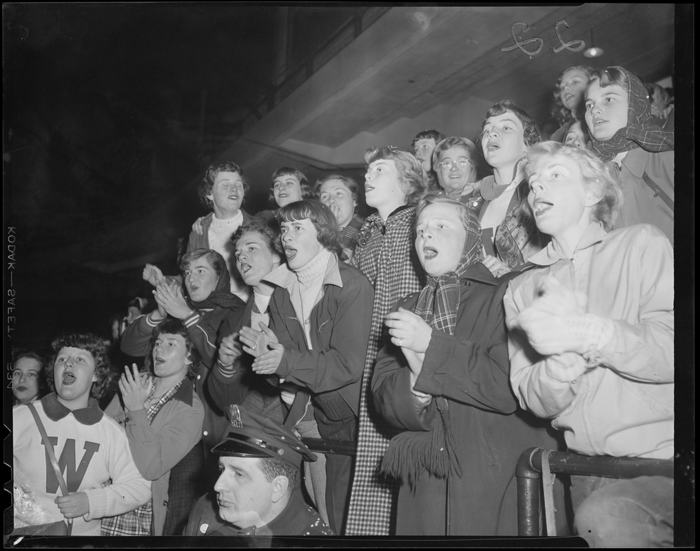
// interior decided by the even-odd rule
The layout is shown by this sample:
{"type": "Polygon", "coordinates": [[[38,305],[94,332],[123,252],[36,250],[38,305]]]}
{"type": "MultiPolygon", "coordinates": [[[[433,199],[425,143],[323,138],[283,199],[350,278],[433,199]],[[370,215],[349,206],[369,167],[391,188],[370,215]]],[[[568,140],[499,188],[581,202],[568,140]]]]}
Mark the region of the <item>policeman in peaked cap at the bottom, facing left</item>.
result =
{"type": "Polygon", "coordinates": [[[285,426],[230,407],[231,426],[212,452],[221,475],[190,513],[185,536],[332,536],[299,486],[302,461],[316,461],[285,426]],[[217,511],[218,510],[218,511],[217,511]]]}

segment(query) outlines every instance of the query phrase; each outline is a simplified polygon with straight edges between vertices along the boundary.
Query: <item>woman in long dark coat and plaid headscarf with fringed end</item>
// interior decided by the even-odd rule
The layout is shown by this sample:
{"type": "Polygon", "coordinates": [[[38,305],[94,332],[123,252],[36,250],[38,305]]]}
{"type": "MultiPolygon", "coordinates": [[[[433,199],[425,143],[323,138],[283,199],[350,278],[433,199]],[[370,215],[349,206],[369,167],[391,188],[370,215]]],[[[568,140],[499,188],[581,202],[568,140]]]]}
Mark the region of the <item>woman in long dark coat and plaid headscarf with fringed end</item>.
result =
{"type": "MultiPolygon", "coordinates": [[[[518,410],[508,382],[503,293],[479,261],[481,228],[463,203],[430,193],[416,208],[427,277],[386,317],[372,396],[402,432],[382,470],[402,481],[399,536],[515,536],[515,464],[557,449],[546,421],[518,410]],[[429,504],[429,505],[428,505],[429,504]]],[[[563,488],[557,488],[563,514],[563,488]]],[[[566,520],[561,518],[561,524],[566,520]]]]}

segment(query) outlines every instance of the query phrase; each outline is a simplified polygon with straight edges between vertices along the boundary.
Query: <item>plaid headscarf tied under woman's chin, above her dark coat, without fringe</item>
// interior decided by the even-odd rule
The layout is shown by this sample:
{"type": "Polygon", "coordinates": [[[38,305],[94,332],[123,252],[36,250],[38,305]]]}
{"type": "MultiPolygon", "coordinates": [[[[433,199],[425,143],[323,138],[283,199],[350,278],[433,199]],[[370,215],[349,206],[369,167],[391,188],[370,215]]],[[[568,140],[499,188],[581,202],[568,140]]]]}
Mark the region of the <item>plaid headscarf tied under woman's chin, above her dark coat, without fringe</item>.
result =
{"type": "Polygon", "coordinates": [[[470,209],[468,213],[467,237],[464,240],[462,256],[454,272],[447,272],[440,277],[426,276],[428,283],[416,302],[414,312],[432,328],[454,335],[459,307],[460,279],[465,270],[479,261],[481,251],[481,225],[476,214],[470,209]]]}

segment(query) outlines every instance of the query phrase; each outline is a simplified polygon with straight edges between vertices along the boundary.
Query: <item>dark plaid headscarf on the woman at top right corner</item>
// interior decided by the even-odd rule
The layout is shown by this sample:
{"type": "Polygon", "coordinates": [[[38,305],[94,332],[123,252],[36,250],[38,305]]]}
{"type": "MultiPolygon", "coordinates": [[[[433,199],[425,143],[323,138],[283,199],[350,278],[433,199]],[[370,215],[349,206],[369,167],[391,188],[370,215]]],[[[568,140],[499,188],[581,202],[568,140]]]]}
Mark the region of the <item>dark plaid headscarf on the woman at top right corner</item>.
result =
{"type": "Polygon", "coordinates": [[[659,120],[652,116],[649,93],[642,81],[622,67],[612,69],[622,71],[629,84],[627,125],[605,141],[596,140],[591,136],[591,148],[594,153],[603,162],[608,162],[618,153],[636,148],[654,153],[673,150],[673,132],[663,130],[659,120]]]}

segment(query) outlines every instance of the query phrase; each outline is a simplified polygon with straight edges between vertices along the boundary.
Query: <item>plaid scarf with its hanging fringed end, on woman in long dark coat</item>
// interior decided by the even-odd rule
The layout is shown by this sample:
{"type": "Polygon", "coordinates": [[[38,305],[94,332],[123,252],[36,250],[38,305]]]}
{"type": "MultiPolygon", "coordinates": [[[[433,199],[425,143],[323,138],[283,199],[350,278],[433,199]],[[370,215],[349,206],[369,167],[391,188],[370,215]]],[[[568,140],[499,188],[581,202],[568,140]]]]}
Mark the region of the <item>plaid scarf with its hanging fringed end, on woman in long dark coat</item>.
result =
{"type": "MultiPolygon", "coordinates": [[[[449,335],[454,335],[457,323],[461,278],[470,265],[479,261],[481,251],[481,227],[471,211],[469,222],[457,269],[440,277],[428,276],[428,284],[423,287],[414,308],[430,327],[449,335]]],[[[407,431],[395,436],[381,461],[382,472],[405,480],[412,489],[424,470],[437,478],[462,476],[456,442],[449,426],[447,399],[435,396],[433,401],[438,414],[430,431],[407,431]]]]}

